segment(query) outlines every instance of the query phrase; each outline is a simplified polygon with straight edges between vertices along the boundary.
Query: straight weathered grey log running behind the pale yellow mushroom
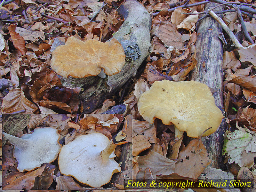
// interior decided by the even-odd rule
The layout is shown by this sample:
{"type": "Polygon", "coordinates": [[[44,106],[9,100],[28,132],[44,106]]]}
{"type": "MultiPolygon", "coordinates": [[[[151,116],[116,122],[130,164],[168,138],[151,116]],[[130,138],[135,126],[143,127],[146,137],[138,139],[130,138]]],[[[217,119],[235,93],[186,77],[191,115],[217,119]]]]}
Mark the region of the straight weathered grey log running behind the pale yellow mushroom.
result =
{"type": "MultiPolygon", "coordinates": [[[[218,4],[209,3],[205,5],[204,10],[211,9],[218,4]]],[[[223,6],[214,9],[214,12],[223,11],[223,6]]],[[[201,15],[203,16],[203,15],[201,15]]],[[[220,16],[220,15],[219,15],[220,16]]],[[[190,80],[195,80],[208,85],[216,90],[213,94],[215,104],[223,111],[222,95],[222,63],[223,48],[219,39],[222,28],[212,17],[207,17],[199,23],[196,40],[196,60],[197,70],[194,69],[190,75],[190,80]]],[[[213,168],[220,168],[221,154],[223,146],[224,119],[216,132],[207,137],[202,137],[205,148],[208,151],[213,168]]]]}

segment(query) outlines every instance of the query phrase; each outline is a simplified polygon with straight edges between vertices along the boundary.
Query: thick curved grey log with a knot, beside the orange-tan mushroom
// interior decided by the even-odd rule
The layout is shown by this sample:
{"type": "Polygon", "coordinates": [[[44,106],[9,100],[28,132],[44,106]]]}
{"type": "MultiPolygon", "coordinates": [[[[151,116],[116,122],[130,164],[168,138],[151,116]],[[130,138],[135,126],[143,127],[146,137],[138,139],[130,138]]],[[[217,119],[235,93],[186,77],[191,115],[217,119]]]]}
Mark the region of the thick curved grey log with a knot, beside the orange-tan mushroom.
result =
{"type": "Polygon", "coordinates": [[[125,65],[121,72],[107,76],[105,79],[99,76],[81,79],[70,77],[61,81],[63,86],[84,88],[84,92],[80,94],[83,100],[83,113],[91,113],[103,103],[106,97],[118,91],[136,74],[141,63],[151,52],[149,33],[151,17],[144,6],[136,0],[126,0],[117,11],[125,19],[123,25],[113,36],[123,45],[126,55],[125,65]]]}

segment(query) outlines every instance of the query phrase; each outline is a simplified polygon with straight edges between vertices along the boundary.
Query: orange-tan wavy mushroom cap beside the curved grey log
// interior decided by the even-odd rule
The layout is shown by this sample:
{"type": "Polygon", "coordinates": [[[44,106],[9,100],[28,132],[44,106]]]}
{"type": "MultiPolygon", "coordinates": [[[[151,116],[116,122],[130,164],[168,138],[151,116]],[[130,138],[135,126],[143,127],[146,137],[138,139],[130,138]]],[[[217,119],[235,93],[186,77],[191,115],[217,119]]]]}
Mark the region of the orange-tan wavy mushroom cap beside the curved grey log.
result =
{"type": "Polygon", "coordinates": [[[95,39],[83,42],[71,36],[65,45],[58,46],[52,52],[51,62],[52,69],[63,77],[96,76],[101,69],[111,76],[124,67],[125,54],[116,39],[106,43],[95,39]]]}

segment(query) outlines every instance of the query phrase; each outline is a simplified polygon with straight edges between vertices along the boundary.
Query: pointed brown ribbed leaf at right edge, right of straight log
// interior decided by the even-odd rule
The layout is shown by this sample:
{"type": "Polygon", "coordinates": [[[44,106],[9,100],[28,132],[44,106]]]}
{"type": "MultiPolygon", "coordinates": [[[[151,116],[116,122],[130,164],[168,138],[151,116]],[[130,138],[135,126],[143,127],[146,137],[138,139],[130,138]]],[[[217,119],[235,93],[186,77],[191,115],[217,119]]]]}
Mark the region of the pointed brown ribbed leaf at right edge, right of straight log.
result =
{"type": "Polygon", "coordinates": [[[252,76],[237,76],[234,79],[228,81],[228,83],[234,83],[256,92],[256,78],[252,76]]]}

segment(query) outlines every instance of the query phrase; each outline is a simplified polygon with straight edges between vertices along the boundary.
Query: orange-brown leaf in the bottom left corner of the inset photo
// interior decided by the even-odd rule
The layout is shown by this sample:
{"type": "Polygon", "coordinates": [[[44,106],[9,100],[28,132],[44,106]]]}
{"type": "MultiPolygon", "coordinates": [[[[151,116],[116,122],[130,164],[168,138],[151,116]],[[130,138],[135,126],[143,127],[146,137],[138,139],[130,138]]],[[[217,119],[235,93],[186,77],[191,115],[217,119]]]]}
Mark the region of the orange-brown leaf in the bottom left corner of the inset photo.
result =
{"type": "Polygon", "coordinates": [[[26,173],[21,173],[11,166],[11,173],[3,175],[3,188],[5,190],[32,189],[34,187],[35,178],[42,174],[45,166],[46,164],[35,171],[26,173]]]}

